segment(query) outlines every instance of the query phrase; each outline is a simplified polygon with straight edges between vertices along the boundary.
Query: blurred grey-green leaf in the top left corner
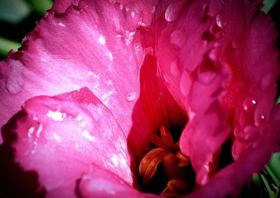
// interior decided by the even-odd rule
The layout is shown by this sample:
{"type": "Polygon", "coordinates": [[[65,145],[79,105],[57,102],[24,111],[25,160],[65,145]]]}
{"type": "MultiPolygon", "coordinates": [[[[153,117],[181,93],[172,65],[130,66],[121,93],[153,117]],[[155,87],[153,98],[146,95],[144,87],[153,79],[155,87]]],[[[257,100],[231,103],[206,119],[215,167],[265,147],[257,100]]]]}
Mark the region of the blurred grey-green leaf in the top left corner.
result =
{"type": "Polygon", "coordinates": [[[0,20],[17,24],[31,12],[28,4],[22,0],[0,0],[0,20]]]}

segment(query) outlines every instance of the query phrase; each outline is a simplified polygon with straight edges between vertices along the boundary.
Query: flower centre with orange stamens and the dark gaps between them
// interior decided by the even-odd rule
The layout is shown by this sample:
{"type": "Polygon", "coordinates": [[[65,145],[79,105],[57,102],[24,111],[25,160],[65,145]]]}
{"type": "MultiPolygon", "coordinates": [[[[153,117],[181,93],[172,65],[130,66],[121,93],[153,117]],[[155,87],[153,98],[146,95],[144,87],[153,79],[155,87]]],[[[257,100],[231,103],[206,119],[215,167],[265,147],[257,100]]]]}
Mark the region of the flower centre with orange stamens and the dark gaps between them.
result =
{"type": "Polygon", "coordinates": [[[163,197],[180,197],[193,190],[195,176],[188,157],[174,143],[167,127],[160,127],[160,136],[152,134],[150,150],[139,164],[139,176],[145,192],[163,197]]]}

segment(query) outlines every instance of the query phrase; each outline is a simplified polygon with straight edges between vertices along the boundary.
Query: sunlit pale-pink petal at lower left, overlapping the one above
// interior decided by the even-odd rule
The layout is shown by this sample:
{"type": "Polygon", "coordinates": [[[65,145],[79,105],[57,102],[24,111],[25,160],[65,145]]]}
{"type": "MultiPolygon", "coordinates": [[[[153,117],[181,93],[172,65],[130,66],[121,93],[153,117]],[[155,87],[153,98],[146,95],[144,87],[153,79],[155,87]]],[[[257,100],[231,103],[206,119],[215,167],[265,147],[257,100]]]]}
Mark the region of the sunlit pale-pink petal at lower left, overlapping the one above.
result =
{"type": "Polygon", "coordinates": [[[15,162],[38,172],[47,197],[75,197],[76,180],[92,162],[132,185],[126,137],[90,90],[34,97],[24,111],[15,128],[15,162]]]}

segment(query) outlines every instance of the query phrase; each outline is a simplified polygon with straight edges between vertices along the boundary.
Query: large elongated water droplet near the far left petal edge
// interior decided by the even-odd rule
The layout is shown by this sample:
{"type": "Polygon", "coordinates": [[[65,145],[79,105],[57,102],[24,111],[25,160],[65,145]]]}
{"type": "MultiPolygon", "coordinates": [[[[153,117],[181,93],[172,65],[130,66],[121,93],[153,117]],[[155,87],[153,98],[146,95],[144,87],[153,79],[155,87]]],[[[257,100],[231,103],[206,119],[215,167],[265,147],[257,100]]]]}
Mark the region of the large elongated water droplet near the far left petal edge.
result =
{"type": "Polygon", "coordinates": [[[22,64],[19,61],[11,62],[11,71],[6,80],[6,89],[10,94],[19,94],[24,85],[24,78],[22,75],[22,64]]]}

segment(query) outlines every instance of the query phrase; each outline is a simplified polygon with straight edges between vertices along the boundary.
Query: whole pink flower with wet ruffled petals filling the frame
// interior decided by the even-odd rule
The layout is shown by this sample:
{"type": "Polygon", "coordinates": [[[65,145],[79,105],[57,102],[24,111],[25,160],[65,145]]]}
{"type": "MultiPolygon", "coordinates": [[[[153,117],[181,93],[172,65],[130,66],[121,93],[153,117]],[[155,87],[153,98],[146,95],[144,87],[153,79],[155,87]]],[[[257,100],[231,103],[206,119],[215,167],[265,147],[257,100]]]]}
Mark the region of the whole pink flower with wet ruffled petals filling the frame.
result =
{"type": "Polygon", "coordinates": [[[139,190],[161,163],[165,195],[186,180],[178,167],[195,173],[190,197],[238,195],[280,143],[277,34],[261,5],[55,1],[0,62],[0,192],[153,197],[139,190]]]}

